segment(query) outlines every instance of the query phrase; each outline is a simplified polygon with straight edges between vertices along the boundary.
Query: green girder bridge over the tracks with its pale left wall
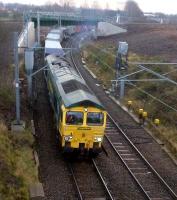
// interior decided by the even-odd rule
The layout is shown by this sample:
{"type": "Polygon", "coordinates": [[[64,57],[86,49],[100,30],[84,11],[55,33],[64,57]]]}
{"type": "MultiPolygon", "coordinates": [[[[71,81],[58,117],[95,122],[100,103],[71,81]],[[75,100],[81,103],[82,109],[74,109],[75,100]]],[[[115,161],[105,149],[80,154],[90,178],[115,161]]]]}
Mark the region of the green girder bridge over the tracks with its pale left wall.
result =
{"type": "Polygon", "coordinates": [[[23,17],[24,28],[18,39],[19,52],[24,52],[26,47],[40,45],[41,26],[94,25],[97,27],[98,22],[115,21],[113,18],[98,16],[96,13],[88,16],[77,12],[26,12],[23,17]]]}

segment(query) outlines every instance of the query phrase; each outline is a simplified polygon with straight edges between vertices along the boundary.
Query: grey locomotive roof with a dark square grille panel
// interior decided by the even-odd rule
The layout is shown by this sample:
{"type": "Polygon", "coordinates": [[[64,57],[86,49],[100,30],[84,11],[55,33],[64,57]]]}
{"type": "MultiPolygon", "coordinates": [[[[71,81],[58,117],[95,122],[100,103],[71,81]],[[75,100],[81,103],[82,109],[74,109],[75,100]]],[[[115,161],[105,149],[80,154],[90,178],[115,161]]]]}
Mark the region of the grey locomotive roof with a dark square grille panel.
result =
{"type": "Polygon", "coordinates": [[[87,87],[85,81],[65,58],[49,55],[46,60],[65,107],[95,106],[104,109],[97,97],[87,87]]]}

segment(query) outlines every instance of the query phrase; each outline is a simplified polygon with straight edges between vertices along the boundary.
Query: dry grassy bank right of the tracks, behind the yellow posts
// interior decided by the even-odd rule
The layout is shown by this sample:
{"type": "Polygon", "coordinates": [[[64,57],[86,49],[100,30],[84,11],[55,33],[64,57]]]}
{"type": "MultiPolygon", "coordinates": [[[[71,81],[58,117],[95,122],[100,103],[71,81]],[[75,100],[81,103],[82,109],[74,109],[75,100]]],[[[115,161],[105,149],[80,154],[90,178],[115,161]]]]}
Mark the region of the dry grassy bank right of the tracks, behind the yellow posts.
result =
{"type": "MultiPolygon", "coordinates": [[[[86,51],[86,63],[87,66],[93,71],[93,73],[98,77],[98,79],[106,85],[107,88],[110,88],[110,81],[115,79],[115,71],[114,71],[114,61],[115,57],[111,54],[107,54],[98,50],[98,48],[109,49],[110,46],[106,43],[100,44],[100,42],[95,43],[94,45],[88,46],[84,49],[86,51]],[[95,45],[95,46],[94,46],[95,45]],[[109,62],[108,62],[109,61],[109,62]],[[104,67],[107,66],[106,68],[104,67]]],[[[112,47],[114,49],[114,47],[112,47]]],[[[114,52],[114,51],[113,51],[114,52]]],[[[114,53],[115,54],[115,53],[114,53]]],[[[129,52],[129,62],[163,62],[163,58],[155,56],[142,56],[137,55],[135,53],[129,52]]],[[[164,74],[166,72],[170,72],[174,70],[172,66],[148,66],[150,69],[164,74]]],[[[137,67],[134,65],[130,65],[128,71],[125,74],[129,74],[131,72],[137,71],[137,67]]],[[[122,74],[123,75],[123,74],[122,74]]],[[[170,78],[173,80],[177,80],[177,74],[175,73],[169,74],[170,78]]],[[[137,74],[134,79],[146,79],[146,78],[156,78],[149,73],[141,73],[137,74]]],[[[177,109],[177,88],[176,86],[169,84],[167,82],[143,82],[136,83],[136,86],[140,88],[140,90],[144,90],[145,92],[150,93],[154,97],[164,101],[169,104],[171,107],[177,109]]],[[[148,112],[148,118],[152,122],[155,118],[159,118],[161,121],[161,125],[158,127],[158,131],[149,128],[155,133],[155,135],[161,139],[169,148],[171,152],[177,157],[177,113],[172,109],[166,107],[155,99],[151,98],[147,94],[137,90],[132,86],[126,86],[126,96],[122,101],[123,104],[127,104],[128,100],[133,101],[133,107],[135,113],[137,113],[139,108],[143,108],[148,112]]]]}

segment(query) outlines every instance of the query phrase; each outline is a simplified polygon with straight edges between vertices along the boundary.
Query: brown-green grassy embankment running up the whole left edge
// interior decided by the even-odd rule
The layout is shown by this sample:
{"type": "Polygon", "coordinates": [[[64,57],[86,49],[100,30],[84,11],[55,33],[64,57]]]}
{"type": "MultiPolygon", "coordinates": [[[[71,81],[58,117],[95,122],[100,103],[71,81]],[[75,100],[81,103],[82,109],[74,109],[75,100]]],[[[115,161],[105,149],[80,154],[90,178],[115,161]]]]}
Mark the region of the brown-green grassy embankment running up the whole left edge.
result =
{"type": "Polygon", "coordinates": [[[5,125],[14,118],[13,32],[20,32],[21,27],[22,23],[0,22],[0,199],[3,200],[29,199],[29,185],[38,181],[30,130],[11,133],[5,125]]]}

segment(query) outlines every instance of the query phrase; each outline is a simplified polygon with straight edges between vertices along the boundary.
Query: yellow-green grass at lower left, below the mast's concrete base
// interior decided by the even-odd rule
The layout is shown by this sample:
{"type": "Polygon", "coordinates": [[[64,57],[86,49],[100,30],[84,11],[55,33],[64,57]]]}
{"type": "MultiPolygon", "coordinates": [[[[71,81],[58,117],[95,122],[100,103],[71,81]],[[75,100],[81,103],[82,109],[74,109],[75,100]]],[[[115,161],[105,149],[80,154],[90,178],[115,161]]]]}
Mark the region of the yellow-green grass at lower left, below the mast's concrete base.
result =
{"type": "Polygon", "coordinates": [[[36,182],[32,156],[33,137],[29,131],[10,133],[0,123],[0,194],[2,199],[29,199],[28,187],[36,182]]]}

